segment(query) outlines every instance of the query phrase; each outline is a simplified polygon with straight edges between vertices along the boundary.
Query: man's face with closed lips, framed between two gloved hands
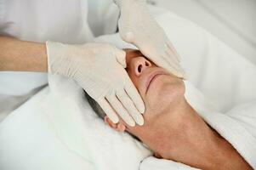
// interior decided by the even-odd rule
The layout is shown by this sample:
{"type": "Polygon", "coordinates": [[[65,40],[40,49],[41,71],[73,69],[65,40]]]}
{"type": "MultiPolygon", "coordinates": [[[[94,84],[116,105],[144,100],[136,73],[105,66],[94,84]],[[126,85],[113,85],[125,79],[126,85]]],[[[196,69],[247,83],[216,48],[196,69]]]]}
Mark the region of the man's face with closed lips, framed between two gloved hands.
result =
{"type": "MultiPolygon", "coordinates": [[[[184,96],[185,86],[181,79],[156,66],[138,50],[127,49],[126,53],[126,71],[145,103],[143,115],[145,125],[128,127],[124,122],[120,123],[128,127],[127,130],[141,129],[150,126],[152,122],[156,121],[157,116],[161,116],[169,108],[175,109],[176,102],[179,102],[179,98],[184,96]]],[[[111,127],[117,126],[112,124],[111,127]]],[[[124,129],[123,127],[121,131],[124,129]]]]}

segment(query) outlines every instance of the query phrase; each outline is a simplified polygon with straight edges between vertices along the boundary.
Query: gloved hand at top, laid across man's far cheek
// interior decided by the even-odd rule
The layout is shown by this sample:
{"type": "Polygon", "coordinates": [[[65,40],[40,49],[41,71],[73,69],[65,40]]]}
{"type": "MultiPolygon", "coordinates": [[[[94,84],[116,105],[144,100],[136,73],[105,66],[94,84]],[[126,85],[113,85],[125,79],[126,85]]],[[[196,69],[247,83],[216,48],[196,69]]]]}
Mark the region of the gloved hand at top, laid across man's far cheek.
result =
{"type": "Polygon", "coordinates": [[[177,77],[185,77],[179,65],[179,54],[165,32],[153,19],[145,0],[114,0],[120,8],[119,33],[142,54],[177,77]]]}

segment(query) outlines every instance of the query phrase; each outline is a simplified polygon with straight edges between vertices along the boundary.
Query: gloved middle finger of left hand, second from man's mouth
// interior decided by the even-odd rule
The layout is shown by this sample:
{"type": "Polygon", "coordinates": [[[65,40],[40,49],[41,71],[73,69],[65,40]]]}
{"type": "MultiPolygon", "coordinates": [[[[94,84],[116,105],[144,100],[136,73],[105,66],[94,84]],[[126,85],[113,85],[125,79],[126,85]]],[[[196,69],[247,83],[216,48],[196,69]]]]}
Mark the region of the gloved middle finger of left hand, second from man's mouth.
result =
{"type": "Polygon", "coordinates": [[[143,116],[141,113],[139,113],[133,101],[129,98],[128,94],[124,90],[121,90],[117,92],[117,98],[121,101],[122,105],[126,108],[130,116],[134,118],[134,121],[140,126],[143,125],[143,116]]]}

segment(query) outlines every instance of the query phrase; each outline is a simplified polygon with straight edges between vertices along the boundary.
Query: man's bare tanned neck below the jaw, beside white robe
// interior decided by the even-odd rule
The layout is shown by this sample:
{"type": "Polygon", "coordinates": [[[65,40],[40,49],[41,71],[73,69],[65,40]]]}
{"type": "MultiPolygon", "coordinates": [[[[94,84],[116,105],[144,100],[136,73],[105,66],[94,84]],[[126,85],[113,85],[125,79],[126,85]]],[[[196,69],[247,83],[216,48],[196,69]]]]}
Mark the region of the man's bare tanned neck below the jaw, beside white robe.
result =
{"type": "Polygon", "coordinates": [[[135,135],[160,158],[201,169],[251,169],[231,144],[198,116],[185,98],[145,124],[135,135]]]}

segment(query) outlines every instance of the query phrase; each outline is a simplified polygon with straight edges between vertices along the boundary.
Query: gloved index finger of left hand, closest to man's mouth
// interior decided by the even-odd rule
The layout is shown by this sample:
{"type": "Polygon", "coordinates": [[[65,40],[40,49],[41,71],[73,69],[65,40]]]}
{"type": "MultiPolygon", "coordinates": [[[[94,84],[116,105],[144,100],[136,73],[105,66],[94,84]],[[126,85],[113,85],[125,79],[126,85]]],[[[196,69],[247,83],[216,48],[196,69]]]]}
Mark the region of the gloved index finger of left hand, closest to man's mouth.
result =
{"type": "Polygon", "coordinates": [[[138,111],[143,114],[145,112],[144,102],[141,99],[141,96],[139,95],[137,88],[135,88],[133,82],[130,79],[128,79],[128,83],[125,85],[124,89],[128,96],[130,97],[130,99],[132,99],[138,111]]]}

